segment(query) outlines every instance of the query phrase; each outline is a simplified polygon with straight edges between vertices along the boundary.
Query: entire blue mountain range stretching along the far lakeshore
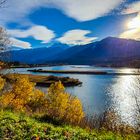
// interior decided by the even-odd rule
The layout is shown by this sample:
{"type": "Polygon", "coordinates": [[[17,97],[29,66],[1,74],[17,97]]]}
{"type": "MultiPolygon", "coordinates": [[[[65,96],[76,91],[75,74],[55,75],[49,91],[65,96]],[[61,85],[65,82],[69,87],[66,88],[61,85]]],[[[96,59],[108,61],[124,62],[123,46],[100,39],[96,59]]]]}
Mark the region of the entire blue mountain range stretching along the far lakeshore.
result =
{"type": "Polygon", "coordinates": [[[87,45],[13,51],[12,56],[25,63],[134,65],[140,64],[140,41],[107,37],[87,45]]]}

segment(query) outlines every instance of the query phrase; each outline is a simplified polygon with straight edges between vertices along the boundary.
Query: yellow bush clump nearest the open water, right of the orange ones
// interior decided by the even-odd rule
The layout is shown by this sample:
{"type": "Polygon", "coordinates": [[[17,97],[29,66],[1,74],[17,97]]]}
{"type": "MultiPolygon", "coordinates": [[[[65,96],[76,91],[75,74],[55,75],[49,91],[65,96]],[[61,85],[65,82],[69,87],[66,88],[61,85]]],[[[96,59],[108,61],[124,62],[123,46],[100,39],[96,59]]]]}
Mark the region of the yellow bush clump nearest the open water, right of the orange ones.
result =
{"type": "Polygon", "coordinates": [[[47,114],[70,123],[79,123],[84,117],[81,101],[66,93],[61,82],[52,84],[48,89],[47,114]]]}

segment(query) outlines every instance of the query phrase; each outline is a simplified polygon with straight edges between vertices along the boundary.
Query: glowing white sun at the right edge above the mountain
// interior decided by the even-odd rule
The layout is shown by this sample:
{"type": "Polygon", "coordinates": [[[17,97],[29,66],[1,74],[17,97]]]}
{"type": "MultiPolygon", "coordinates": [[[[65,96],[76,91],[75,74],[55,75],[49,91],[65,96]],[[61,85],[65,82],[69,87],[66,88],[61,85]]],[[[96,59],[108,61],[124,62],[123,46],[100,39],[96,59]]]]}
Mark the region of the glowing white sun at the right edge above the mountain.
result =
{"type": "Polygon", "coordinates": [[[140,28],[140,16],[133,18],[131,21],[127,23],[127,27],[129,29],[140,28]]]}

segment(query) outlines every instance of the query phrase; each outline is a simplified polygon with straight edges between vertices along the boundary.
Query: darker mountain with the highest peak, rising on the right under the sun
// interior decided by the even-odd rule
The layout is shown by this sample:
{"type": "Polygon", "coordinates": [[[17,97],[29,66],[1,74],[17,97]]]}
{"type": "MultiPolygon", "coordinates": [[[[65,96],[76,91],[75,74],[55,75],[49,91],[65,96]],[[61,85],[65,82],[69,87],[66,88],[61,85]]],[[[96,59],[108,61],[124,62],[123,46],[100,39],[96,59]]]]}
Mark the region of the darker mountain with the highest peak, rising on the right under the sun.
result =
{"type": "Polygon", "coordinates": [[[112,64],[139,59],[140,41],[108,37],[95,43],[68,48],[57,54],[53,62],[68,64],[112,64]]]}

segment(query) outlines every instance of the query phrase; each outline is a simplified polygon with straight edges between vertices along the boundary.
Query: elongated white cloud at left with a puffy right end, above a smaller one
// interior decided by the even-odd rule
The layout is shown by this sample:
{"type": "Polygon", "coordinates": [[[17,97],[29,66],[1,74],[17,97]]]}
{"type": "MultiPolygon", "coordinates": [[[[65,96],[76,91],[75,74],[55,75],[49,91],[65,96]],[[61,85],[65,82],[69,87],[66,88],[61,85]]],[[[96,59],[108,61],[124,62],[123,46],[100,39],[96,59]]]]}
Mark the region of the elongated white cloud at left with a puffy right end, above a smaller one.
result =
{"type": "Polygon", "coordinates": [[[42,41],[41,43],[48,43],[55,37],[55,34],[52,30],[49,30],[45,26],[39,25],[32,26],[27,30],[8,30],[8,33],[12,37],[18,38],[33,37],[36,40],[42,41]]]}

